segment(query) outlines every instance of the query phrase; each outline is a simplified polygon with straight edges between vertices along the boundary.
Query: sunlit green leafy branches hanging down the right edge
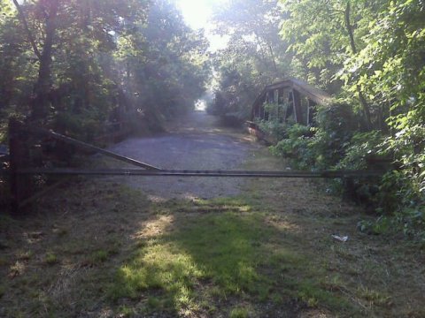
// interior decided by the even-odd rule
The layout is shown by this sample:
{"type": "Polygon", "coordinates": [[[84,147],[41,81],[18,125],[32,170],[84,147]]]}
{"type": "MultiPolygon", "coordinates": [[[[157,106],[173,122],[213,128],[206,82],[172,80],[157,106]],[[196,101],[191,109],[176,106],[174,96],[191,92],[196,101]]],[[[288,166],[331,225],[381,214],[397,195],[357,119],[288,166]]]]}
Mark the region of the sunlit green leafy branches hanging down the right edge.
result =
{"type": "Polygon", "coordinates": [[[355,82],[373,102],[389,105],[385,108],[390,135],[383,148],[394,155],[401,170],[383,178],[381,211],[394,212],[396,223],[416,230],[412,211],[423,209],[425,195],[423,19],[421,2],[390,2],[369,22],[366,46],[345,62],[342,76],[355,82]]]}

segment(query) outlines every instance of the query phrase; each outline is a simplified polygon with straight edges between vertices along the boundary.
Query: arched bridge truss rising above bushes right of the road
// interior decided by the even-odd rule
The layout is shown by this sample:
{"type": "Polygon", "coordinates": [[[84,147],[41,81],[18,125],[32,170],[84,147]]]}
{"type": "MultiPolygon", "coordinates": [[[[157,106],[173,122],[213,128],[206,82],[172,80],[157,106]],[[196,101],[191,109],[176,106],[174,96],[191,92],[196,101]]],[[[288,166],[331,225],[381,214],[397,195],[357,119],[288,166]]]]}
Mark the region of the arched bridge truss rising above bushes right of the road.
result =
{"type": "Polygon", "coordinates": [[[254,123],[259,119],[312,125],[315,105],[330,98],[326,92],[300,79],[288,78],[268,85],[252,104],[250,131],[258,130],[254,123]]]}

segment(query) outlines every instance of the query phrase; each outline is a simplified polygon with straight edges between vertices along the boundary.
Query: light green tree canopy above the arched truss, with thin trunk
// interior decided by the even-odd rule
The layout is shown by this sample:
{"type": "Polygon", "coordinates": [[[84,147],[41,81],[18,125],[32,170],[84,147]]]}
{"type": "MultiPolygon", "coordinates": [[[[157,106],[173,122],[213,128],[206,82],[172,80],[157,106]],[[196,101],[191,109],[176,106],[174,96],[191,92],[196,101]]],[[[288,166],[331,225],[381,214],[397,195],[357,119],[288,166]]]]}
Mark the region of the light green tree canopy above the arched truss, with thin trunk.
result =
{"type": "MultiPolygon", "coordinates": [[[[388,2],[282,0],[281,3],[287,15],[282,20],[282,37],[318,78],[323,72],[336,74],[347,58],[364,47],[368,23],[388,2]]],[[[367,128],[371,129],[370,105],[360,87],[356,88],[356,95],[367,128]]]]}

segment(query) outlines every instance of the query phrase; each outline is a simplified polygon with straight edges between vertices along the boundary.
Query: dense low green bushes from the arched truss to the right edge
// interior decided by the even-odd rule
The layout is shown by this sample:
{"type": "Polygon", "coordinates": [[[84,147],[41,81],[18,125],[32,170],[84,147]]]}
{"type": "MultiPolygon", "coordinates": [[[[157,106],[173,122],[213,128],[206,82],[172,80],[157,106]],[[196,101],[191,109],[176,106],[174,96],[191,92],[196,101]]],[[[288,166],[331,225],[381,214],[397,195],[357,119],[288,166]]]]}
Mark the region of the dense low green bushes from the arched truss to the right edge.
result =
{"type": "MultiPolygon", "coordinates": [[[[375,222],[359,223],[359,229],[375,234],[402,231],[425,239],[425,129],[404,130],[394,138],[382,131],[362,132],[360,122],[346,104],[321,106],[316,127],[287,125],[284,138],[270,149],[290,158],[298,169],[388,170],[382,178],[353,179],[350,197],[379,216],[375,222]],[[390,157],[397,160],[391,163],[390,157]]],[[[332,185],[346,193],[341,180],[332,185]]]]}

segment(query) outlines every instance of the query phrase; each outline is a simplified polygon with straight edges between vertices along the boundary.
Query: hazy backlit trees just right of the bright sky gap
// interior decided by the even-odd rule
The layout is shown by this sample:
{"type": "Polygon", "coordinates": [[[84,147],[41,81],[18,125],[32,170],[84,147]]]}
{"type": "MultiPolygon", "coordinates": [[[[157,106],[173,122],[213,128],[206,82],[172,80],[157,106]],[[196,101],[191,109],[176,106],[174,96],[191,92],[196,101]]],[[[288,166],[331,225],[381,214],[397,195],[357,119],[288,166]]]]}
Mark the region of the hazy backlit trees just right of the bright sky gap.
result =
{"type": "Polygon", "coordinates": [[[281,10],[270,1],[231,1],[217,6],[217,34],[227,34],[228,47],[214,54],[215,102],[210,111],[247,120],[259,91],[289,72],[287,45],[277,34],[281,10]]]}

